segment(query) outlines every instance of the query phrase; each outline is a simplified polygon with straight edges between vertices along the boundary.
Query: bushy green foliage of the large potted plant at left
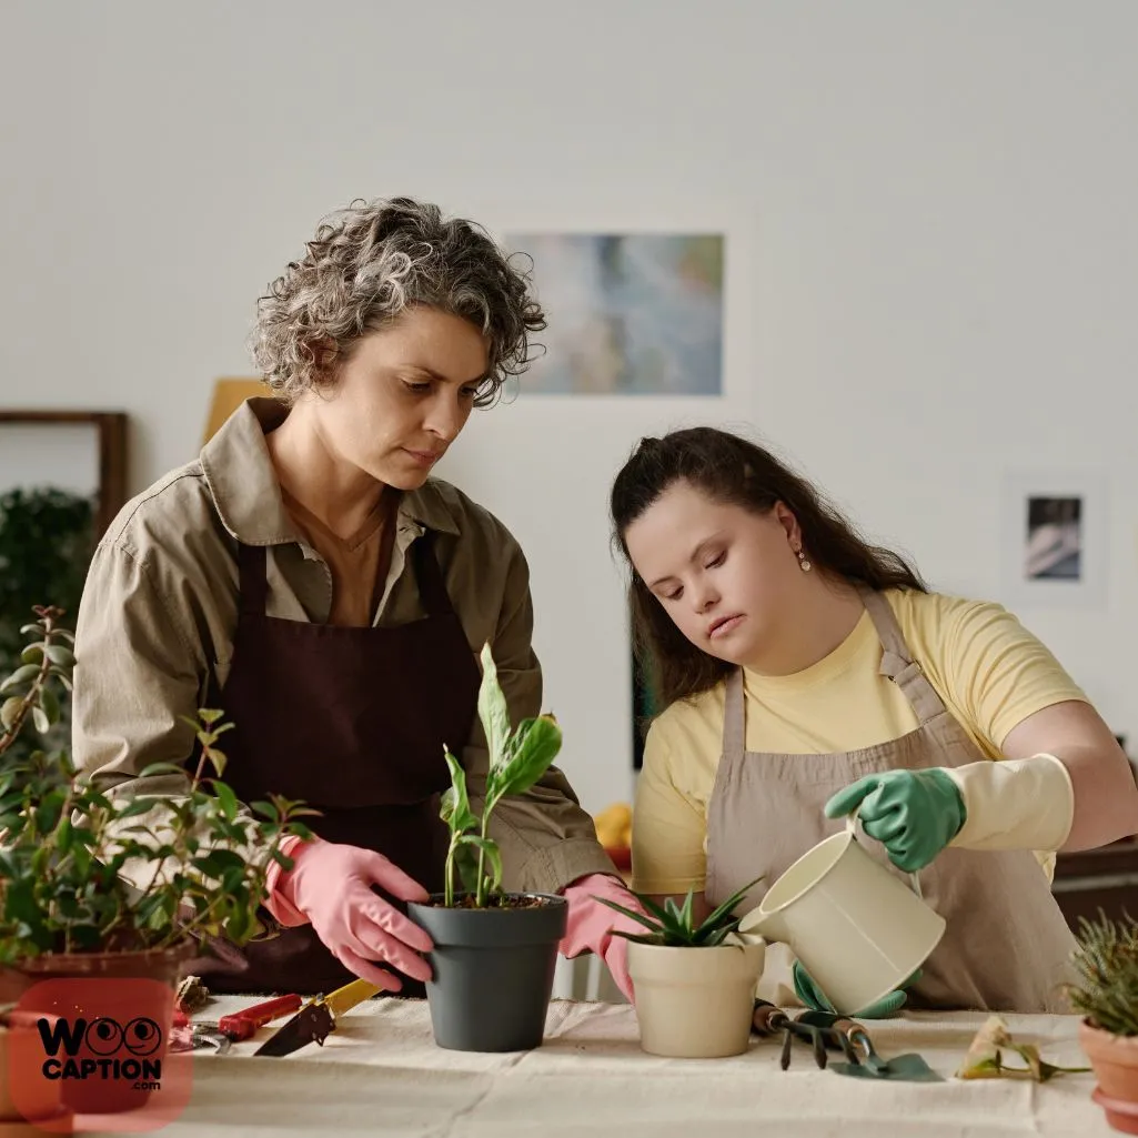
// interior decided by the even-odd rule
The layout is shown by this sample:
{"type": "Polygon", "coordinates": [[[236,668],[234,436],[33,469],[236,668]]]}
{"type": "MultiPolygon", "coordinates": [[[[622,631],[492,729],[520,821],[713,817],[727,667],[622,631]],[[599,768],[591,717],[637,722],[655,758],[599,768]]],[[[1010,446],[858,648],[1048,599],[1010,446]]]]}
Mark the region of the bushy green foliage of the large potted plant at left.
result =
{"type": "MultiPolygon", "coordinates": [[[[176,799],[110,798],[64,750],[14,758],[22,728],[50,731],[72,683],[61,612],[35,612],[23,662],[0,685],[0,965],[166,948],[193,935],[242,943],[263,931],[269,866],[291,867],[281,842],[311,836],[297,818],[315,811],[280,797],[242,808],[220,778],[225,756],[216,744],[230,725],[213,710],[191,720],[200,754],[189,792],[176,799]]],[[[182,768],[154,764],[141,776],[174,772],[182,768]]]]}

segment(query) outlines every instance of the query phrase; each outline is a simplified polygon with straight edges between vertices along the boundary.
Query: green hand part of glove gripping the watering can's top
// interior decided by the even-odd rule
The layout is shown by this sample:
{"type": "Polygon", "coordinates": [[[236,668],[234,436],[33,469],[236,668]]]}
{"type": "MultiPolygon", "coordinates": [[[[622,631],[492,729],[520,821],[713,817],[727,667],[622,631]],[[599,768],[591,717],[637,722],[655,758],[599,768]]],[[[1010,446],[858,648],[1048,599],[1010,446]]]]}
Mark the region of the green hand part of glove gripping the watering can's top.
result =
{"type": "Polygon", "coordinates": [[[943,770],[885,770],[866,775],[826,803],[826,817],[858,810],[865,832],[906,873],[923,869],[960,832],[967,811],[943,770]]]}

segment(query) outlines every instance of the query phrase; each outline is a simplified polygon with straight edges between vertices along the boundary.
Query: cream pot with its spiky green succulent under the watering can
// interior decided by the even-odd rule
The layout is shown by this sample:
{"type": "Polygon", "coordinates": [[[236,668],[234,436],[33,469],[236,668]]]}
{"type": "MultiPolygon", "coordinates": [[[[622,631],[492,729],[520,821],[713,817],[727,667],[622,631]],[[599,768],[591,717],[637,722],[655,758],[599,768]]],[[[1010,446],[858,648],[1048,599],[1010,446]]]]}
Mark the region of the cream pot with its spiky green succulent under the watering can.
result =
{"type": "Polygon", "coordinates": [[[669,897],[659,905],[637,894],[648,915],[597,898],[646,930],[617,933],[629,941],[628,974],[636,989],[636,1019],[645,1052],[719,1058],[747,1050],[766,941],[741,935],[741,917],[733,910],[761,880],[744,885],[702,921],[693,915],[693,890],[682,904],[669,897]]]}

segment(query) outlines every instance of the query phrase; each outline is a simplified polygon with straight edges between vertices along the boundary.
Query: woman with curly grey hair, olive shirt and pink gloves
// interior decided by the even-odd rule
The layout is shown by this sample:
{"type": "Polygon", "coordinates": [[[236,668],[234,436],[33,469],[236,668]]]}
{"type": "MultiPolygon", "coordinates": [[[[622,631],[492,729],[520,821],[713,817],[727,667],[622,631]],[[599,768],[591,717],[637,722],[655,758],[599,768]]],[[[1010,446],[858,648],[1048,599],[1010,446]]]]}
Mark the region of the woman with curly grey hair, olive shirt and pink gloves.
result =
{"type": "MultiPolygon", "coordinates": [[[[480,646],[514,721],[542,700],[522,552],[430,472],[544,327],[478,226],[409,199],[356,203],[261,297],[251,347],[275,397],[242,405],[100,542],[76,636],[79,766],[116,795],[182,794],[185,777],[140,772],[184,764],[183,717],[221,707],[242,799],[322,811],[270,881],[282,933],[244,959],[228,946],[213,987],[429,975],[430,941],[398,902],[442,885],[444,744],[465,744],[476,795],[486,772],[480,646]]],[[[594,894],[635,902],[564,777],[504,800],[492,830],[511,888],[569,899],[562,951],[599,953],[627,993],[612,931],[628,925],[594,894]]]]}

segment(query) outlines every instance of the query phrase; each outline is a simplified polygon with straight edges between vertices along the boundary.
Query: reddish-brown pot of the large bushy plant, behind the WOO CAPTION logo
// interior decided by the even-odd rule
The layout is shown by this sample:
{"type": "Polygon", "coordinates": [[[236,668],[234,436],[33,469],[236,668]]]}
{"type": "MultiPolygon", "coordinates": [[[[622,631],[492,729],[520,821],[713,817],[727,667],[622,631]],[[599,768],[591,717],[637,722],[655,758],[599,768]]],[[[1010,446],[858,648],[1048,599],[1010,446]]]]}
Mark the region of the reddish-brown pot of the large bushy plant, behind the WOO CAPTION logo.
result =
{"type": "MultiPolygon", "coordinates": [[[[49,953],[18,968],[0,970],[0,1000],[18,1001],[22,1013],[68,1025],[80,1020],[105,1024],[76,1033],[74,1048],[60,1045],[55,1053],[36,1030],[32,1038],[38,1055],[23,1067],[20,1106],[28,1088],[39,1083],[55,1088],[57,1099],[61,1092],[63,1105],[77,1114],[118,1114],[145,1106],[150,1085],[160,1080],[133,1072],[154,1071],[154,1064],[160,1069],[166,1058],[178,982],[195,951],[196,945],[185,942],[134,953],[49,953]],[[133,1038],[127,1038],[131,1032],[133,1038]],[[105,1074],[114,1063],[119,1064],[115,1073],[105,1074]],[[69,1074],[84,1064],[94,1064],[96,1073],[69,1074]]],[[[38,1086],[35,1094],[41,1089],[48,1094],[48,1087],[38,1086]]]]}

